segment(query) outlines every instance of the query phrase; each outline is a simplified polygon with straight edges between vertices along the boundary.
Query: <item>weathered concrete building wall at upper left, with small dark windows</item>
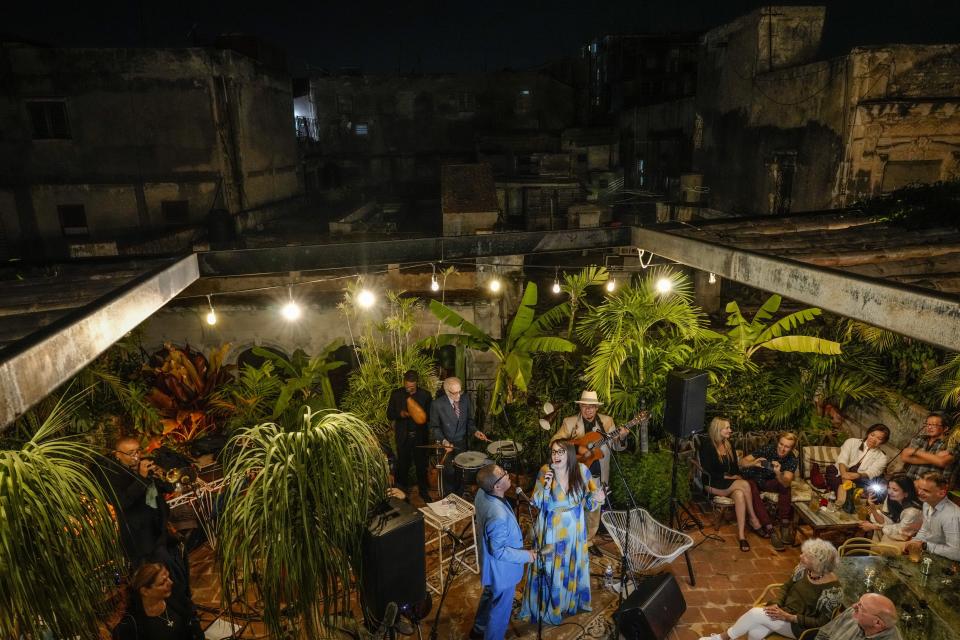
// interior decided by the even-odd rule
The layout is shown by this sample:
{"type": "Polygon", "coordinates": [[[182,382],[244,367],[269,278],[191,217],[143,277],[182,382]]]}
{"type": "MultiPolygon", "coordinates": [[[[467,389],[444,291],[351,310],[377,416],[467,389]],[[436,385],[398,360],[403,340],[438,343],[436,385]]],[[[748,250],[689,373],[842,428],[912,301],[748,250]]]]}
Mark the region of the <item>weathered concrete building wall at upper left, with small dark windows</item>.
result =
{"type": "Polygon", "coordinates": [[[62,243],[57,204],[84,205],[97,241],[163,227],[163,200],[201,222],[218,185],[234,213],[302,192],[289,78],[239,54],[5,44],[0,58],[0,182],[19,191],[18,218],[36,215],[17,241],[62,243]],[[34,139],[38,99],[64,106],[66,137],[34,139]]]}

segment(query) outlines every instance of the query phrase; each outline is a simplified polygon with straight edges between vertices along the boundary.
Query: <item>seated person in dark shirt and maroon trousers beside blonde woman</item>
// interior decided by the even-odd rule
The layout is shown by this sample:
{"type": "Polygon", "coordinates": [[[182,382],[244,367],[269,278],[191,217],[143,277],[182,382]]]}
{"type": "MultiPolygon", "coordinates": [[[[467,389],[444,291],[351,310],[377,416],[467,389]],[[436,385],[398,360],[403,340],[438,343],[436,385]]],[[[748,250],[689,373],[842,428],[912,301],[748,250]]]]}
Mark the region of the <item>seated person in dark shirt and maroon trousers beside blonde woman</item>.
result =
{"type": "Polygon", "coordinates": [[[780,551],[784,544],[796,544],[796,534],[793,530],[793,477],[800,466],[800,461],[794,449],[797,446],[797,434],[791,431],[781,431],[777,434],[777,441],[768,443],[743,460],[747,468],[744,474],[750,482],[750,499],[753,510],[763,524],[765,532],[771,534],[771,543],[774,549],[780,551]],[[776,530],[767,514],[761,493],[772,491],[777,494],[777,519],[780,520],[779,540],[776,530]],[[782,543],[780,542],[782,540],[782,543]]]}

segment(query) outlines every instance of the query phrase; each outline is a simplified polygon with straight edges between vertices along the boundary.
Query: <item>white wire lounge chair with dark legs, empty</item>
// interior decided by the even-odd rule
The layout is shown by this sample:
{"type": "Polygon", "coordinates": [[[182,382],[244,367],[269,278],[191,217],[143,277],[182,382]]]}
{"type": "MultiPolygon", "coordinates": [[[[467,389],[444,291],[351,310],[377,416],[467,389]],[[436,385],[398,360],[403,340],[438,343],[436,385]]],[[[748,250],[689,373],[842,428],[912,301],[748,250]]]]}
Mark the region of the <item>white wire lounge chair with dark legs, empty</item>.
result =
{"type": "Polygon", "coordinates": [[[621,556],[626,540],[627,566],[633,573],[650,572],[670,564],[693,546],[693,538],[660,524],[646,509],[630,510],[629,534],[626,511],[607,511],[600,519],[617,543],[621,556]]]}

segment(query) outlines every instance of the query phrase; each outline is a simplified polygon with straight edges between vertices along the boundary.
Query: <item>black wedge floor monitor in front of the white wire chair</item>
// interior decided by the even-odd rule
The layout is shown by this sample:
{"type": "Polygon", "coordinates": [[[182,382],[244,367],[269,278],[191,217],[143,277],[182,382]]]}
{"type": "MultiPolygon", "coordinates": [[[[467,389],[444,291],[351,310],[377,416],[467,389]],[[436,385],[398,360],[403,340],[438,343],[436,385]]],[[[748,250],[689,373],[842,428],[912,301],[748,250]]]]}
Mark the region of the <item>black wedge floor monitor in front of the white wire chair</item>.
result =
{"type": "Polygon", "coordinates": [[[680,585],[671,573],[639,578],[637,589],[613,614],[620,637],[663,640],[687,610],[680,585]]]}

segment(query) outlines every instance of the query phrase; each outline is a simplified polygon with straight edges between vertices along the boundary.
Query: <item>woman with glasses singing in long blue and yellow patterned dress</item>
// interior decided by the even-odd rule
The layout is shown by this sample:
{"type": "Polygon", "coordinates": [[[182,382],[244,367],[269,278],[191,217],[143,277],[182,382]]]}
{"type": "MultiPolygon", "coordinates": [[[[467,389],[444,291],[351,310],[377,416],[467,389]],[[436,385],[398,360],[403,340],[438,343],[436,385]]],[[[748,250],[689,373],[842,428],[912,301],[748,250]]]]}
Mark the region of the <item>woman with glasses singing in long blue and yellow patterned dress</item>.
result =
{"type": "Polygon", "coordinates": [[[520,619],[560,624],[564,616],[591,610],[586,512],[599,509],[605,495],[569,440],[550,443],[550,460],[530,499],[539,510],[536,547],[547,551],[543,566],[538,559],[527,570],[520,619]]]}

